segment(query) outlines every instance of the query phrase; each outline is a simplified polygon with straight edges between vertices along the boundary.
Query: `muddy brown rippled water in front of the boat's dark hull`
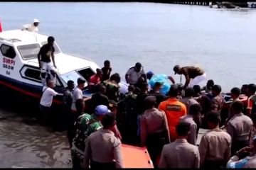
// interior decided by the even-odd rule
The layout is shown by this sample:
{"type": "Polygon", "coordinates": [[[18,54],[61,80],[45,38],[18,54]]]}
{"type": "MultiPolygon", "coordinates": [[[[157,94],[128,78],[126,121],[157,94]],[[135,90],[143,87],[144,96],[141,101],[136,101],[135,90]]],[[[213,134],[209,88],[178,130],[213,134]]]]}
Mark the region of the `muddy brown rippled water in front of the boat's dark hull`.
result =
{"type": "Polygon", "coordinates": [[[36,119],[0,109],[0,168],[68,168],[65,132],[49,132],[36,119]]]}

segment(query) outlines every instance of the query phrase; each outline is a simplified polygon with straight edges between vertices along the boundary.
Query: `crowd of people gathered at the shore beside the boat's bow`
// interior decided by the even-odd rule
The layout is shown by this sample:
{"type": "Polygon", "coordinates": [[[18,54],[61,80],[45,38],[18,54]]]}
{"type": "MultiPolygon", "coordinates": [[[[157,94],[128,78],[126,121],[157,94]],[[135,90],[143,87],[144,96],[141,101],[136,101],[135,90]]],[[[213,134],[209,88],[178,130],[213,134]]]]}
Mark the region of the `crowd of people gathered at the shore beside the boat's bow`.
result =
{"type": "MultiPolygon", "coordinates": [[[[175,66],[174,72],[184,74],[186,84],[175,84],[166,76],[170,88],[163,94],[161,82],[149,86],[153,72],[145,73],[142,64],[136,63],[127,71],[129,86],[122,93],[119,74],[111,72],[107,60],[86,87],[85,79],[79,78],[77,86],[68,81],[63,106],[69,115],[74,168],[124,167],[122,143],[146,147],[159,168],[256,167],[255,84],[221,94],[221,86],[213,80],[198,85],[206,75],[202,69],[175,66]],[[83,89],[92,97],[83,98],[83,89]],[[198,144],[199,128],[209,131],[198,144]]],[[[40,105],[43,114],[50,113],[57,95],[54,81],[46,81],[40,105]]]]}

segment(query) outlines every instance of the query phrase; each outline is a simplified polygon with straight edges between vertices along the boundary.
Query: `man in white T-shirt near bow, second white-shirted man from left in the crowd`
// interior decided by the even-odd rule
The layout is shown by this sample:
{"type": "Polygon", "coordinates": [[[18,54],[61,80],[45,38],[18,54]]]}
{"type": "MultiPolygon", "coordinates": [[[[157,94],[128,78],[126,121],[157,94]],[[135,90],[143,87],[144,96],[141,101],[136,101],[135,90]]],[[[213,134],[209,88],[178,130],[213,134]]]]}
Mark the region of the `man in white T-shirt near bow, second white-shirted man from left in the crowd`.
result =
{"type": "Polygon", "coordinates": [[[75,108],[75,102],[82,98],[82,89],[85,87],[85,80],[82,78],[78,78],[78,86],[75,87],[73,91],[73,101],[72,101],[72,106],[71,106],[71,111],[73,113],[76,113],[76,108],[75,108]]]}

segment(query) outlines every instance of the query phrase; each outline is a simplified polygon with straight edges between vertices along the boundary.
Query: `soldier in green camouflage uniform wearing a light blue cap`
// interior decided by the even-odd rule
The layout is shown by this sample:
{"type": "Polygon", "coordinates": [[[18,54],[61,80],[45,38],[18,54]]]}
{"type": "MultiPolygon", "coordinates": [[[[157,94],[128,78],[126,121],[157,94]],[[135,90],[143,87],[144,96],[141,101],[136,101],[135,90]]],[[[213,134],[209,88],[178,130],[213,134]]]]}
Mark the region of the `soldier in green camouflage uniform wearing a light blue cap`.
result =
{"type": "Polygon", "coordinates": [[[87,138],[92,132],[102,128],[100,121],[103,115],[108,112],[107,106],[100,105],[95,108],[95,114],[89,115],[84,113],[78,117],[78,120],[75,122],[75,137],[71,149],[73,168],[81,168],[87,138]]]}

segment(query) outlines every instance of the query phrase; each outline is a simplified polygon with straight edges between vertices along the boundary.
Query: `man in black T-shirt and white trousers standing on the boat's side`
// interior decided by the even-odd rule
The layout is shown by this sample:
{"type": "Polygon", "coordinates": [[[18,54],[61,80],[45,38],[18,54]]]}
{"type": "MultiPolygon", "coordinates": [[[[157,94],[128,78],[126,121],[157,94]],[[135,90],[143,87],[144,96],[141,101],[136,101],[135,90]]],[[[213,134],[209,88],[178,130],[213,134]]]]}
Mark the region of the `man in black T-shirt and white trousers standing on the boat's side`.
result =
{"type": "Polygon", "coordinates": [[[46,86],[46,78],[50,74],[50,79],[56,82],[56,72],[57,68],[54,60],[55,49],[53,47],[54,38],[52,36],[48,37],[48,43],[43,45],[38,53],[38,63],[41,69],[41,79],[43,86],[46,86]],[[50,60],[52,58],[53,62],[50,60]]]}

